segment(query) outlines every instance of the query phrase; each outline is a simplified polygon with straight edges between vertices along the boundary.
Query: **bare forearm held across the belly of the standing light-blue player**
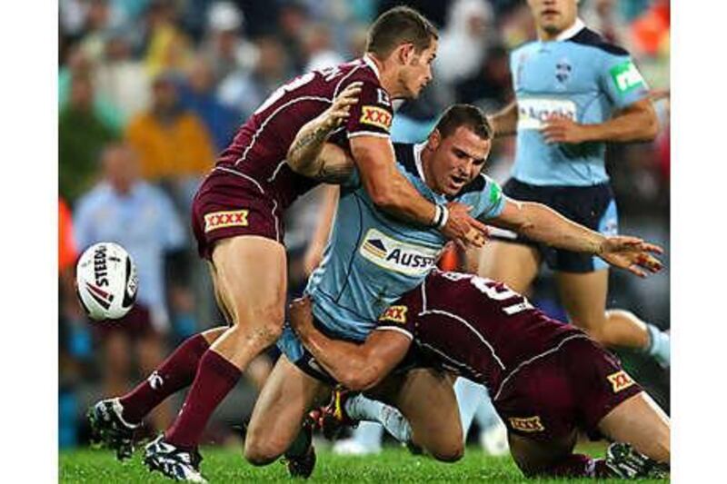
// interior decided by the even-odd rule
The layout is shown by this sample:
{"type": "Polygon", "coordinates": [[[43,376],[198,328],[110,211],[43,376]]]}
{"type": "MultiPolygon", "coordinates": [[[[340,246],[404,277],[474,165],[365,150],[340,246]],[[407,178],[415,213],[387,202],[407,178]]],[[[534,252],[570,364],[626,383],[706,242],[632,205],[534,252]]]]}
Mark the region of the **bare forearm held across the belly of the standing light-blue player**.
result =
{"type": "Polygon", "coordinates": [[[605,123],[581,124],[552,117],[541,128],[546,143],[651,141],[658,132],[659,122],[648,98],[626,106],[605,123]]]}

